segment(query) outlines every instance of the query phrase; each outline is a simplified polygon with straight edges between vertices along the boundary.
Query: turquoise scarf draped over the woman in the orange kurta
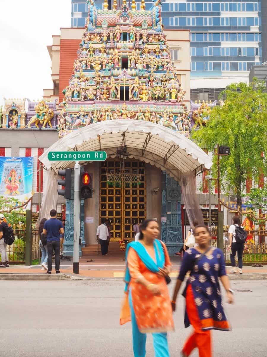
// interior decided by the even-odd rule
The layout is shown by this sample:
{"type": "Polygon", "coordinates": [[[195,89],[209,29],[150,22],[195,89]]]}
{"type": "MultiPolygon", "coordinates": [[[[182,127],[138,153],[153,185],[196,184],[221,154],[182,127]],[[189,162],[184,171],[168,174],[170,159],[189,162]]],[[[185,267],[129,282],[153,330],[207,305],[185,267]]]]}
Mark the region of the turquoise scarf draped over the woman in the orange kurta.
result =
{"type": "Polygon", "coordinates": [[[136,253],[138,254],[138,257],[142,260],[142,262],[145,264],[148,270],[152,271],[153,273],[158,273],[159,268],[163,268],[165,264],[165,255],[164,255],[164,250],[161,242],[158,239],[154,240],[154,249],[155,249],[155,255],[156,255],[156,262],[151,258],[151,256],[148,254],[146,251],[146,248],[142,245],[140,242],[131,242],[127,244],[126,248],[126,254],[125,254],[125,260],[126,260],[126,271],[125,271],[125,289],[124,291],[127,292],[128,290],[128,285],[131,280],[131,275],[129,272],[129,268],[127,265],[127,256],[130,248],[133,248],[136,253]]]}

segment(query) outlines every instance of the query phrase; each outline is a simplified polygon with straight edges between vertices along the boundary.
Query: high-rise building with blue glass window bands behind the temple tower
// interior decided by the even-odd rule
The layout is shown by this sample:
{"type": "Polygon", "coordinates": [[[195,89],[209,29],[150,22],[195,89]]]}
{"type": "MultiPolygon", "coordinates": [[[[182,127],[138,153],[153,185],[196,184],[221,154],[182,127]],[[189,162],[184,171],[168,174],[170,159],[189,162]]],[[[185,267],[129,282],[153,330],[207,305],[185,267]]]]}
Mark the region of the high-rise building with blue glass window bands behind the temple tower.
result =
{"type": "MultiPolygon", "coordinates": [[[[252,66],[262,63],[262,1],[162,0],[164,28],[191,31],[191,99],[218,99],[226,85],[248,82],[252,66]]],[[[95,1],[100,8],[103,2],[95,1]]],[[[72,26],[83,27],[86,18],[86,0],[72,0],[72,26]]]]}

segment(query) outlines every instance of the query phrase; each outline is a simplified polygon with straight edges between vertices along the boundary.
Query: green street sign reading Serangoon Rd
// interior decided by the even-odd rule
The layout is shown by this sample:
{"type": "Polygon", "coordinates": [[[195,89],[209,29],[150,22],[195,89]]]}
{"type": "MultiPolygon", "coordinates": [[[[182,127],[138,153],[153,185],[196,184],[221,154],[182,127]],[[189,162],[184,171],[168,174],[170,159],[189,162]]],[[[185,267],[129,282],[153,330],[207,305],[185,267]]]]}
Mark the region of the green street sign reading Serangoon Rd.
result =
{"type": "Polygon", "coordinates": [[[105,151],[50,151],[47,157],[50,161],[105,161],[107,155],[105,151]]]}

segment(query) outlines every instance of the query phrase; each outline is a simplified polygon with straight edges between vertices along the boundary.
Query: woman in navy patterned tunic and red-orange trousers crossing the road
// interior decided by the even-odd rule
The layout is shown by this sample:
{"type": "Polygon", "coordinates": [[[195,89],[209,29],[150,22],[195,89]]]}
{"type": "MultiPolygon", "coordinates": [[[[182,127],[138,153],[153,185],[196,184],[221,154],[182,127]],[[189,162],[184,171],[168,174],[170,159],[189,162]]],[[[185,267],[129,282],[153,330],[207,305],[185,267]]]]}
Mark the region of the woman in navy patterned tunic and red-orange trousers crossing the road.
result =
{"type": "Polygon", "coordinates": [[[186,273],[190,271],[183,292],[186,301],[184,324],[185,327],[191,324],[194,331],[184,344],[182,356],[189,356],[197,347],[199,357],[211,357],[210,330],[231,329],[222,305],[219,278],[229,303],[233,302],[233,292],[226,275],[223,252],[219,248],[210,247],[208,227],[195,227],[194,236],[198,246],[190,248],[184,255],[173,293],[172,308],[175,311],[178,291],[186,273]]]}

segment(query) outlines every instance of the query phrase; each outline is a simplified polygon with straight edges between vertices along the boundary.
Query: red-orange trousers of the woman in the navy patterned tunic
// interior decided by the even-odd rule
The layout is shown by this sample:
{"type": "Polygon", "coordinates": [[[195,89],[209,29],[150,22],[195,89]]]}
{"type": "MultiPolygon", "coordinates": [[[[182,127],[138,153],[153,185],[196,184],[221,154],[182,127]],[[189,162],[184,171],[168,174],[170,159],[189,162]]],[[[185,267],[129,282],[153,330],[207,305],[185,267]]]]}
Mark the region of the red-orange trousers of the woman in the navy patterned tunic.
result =
{"type": "Polygon", "coordinates": [[[184,344],[182,352],[185,356],[189,356],[194,348],[198,348],[199,357],[212,357],[211,350],[211,333],[210,330],[201,330],[201,322],[198,315],[198,309],[195,305],[192,286],[188,285],[186,292],[186,311],[190,324],[194,328],[194,332],[190,335],[184,344]]]}

